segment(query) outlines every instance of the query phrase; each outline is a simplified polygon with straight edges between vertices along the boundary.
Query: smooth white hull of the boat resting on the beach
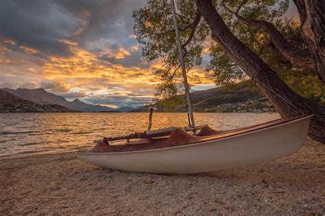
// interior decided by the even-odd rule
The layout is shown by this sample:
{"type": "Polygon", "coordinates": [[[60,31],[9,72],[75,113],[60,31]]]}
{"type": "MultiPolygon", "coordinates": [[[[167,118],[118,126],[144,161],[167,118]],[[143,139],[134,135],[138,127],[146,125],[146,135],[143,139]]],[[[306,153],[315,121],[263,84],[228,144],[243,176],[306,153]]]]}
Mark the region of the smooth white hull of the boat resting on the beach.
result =
{"type": "Polygon", "coordinates": [[[304,144],[311,116],[198,144],[132,152],[77,152],[99,167],[125,172],[194,174],[251,165],[293,154],[304,144]]]}

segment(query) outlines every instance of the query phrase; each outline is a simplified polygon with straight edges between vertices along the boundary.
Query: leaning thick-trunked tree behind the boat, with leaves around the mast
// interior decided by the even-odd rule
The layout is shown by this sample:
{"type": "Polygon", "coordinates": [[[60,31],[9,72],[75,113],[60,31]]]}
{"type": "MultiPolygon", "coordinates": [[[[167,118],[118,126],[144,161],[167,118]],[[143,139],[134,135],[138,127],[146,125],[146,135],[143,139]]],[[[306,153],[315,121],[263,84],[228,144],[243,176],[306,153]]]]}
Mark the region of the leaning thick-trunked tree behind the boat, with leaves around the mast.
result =
{"type": "MultiPolygon", "coordinates": [[[[142,20],[142,18],[144,18],[143,13],[147,13],[147,10],[152,10],[149,13],[152,16],[150,19],[161,21],[162,19],[159,17],[164,18],[164,23],[160,23],[160,25],[163,26],[160,30],[167,33],[166,38],[175,37],[175,34],[172,30],[173,26],[169,25],[169,22],[167,21],[169,19],[168,14],[170,12],[168,3],[166,1],[159,2],[148,1],[147,7],[143,8],[140,11],[134,12],[134,18],[136,19],[135,33],[138,37],[139,42],[142,42],[145,45],[143,54],[148,59],[156,59],[157,57],[168,59],[171,56],[170,53],[176,55],[175,41],[173,41],[175,42],[174,45],[171,44],[172,39],[164,40],[164,38],[160,38],[163,40],[163,42],[158,42],[158,38],[155,38],[155,33],[162,32],[155,32],[156,28],[152,25],[149,25],[149,29],[151,30],[151,32],[149,32],[147,31],[148,25],[143,25],[143,23],[141,23],[145,22],[142,20]],[[166,4],[166,13],[160,14],[157,17],[156,13],[160,12],[160,10],[152,4],[159,5],[159,2],[164,2],[166,4]],[[154,53],[157,51],[158,53],[156,55],[152,55],[152,53],[147,52],[148,48],[154,49],[154,51],[150,52],[154,53]]],[[[261,59],[261,57],[259,57],[254,51],[252,51],[252,49],[250,49],[241,40],[239,40],[239,38],[234,36],[234,33],[230,31],[223,18],[221,18],[219,12],[217,12],[217,2],[213,3],[211,0],[196,0],[195,5],[193,5],[193,3],[191,4],[191,1],[177,1],[177,3],[180,10],[178,18],[182,30],[182,41],[190,41],[186,43],[186,46],[183,46],[186,49],[186,61],[191,61],[191,58],[193,57],[194,59],[200,59],[203,49],[202,42],[204,42],[206,36],[208,35],[208,31],[198,31],[197,28],[195,30],[192,23],[195,23],[195,17],[202,16],[204,18],[204,22],[200,21],[197,23],[197,27],[200,26],[202,29],[206,29],[206,26],[208,26],[210,29],[210,36],[215,42],[217,42],[217,47],[222,49],[224,55],[228,55],[228,57],[230,57],[230,60],[228,62],[224,62],[226,62],[226,64],[229,66],[232,66],[232,63],[236,64],[236,66],[239,66],[241,70],[243,70],[245,74],[252,79],[255,85],[263,91],[267,98],[269,98],[269,100],[276,107],[277,111],[282,117],[293,118],[297,116],[313,114],[314,117],[311,121],[309,136],[313,137],[313,139],[321,141],[322,143],[325,143],[324,106],[315,104],[311,100],[307,100],[306,98],[303,98],[294,92],[284,81],[282,81],[282,79],[280,79],[278,74],[272,70],[272,68],[270,68],[269,65],[263,61],[263,59],[261,59]],[[184,5],[186,5],[186,9],[182,9],[182,6],[184,5]],[[188,30],[189,28],[186,29],[186,26],[191,26],[191,31],[188,30]],[[200,40],[193,40],[193,37],[192,44],[190,36],[191,32],[193,31],[193,36],[200,35],[200,37],[198,37],[200,40]],[[200,47],[200,49],[191,49],[193,46],[200,47]],[[191,50],[191,52],[188,52],[188,49],[191,50]]],[[[249,35],[249,33],[247,33],[247,35],[249,35]]],[[[195,62],[195,64],[192,63],[190,64],[189,68],[198,65],[199,63],[200,62],[195,62]]],[[[172,61],[171,65],[173,65],[172,61]]],[[[177,66],[177,64],[174,64],[174,66],[177,66]]],[[[169,67],[167,67],[167,70],[165,71],[168,72],[168,69],[169,67]]],[[[173,77],[173,74],[170,72],[168,73],[169,76],[173,77]]]]}

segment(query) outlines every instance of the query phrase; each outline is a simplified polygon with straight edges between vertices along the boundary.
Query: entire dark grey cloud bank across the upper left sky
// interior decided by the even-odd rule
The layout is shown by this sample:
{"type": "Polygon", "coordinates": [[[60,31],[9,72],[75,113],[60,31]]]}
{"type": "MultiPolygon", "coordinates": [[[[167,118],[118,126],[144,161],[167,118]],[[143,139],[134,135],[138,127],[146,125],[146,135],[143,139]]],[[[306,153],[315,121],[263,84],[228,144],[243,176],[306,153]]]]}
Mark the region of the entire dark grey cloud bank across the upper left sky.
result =
{"type": "Polygon", "coordinates": [[[70,39],[91,51],[103,47],[119,49],[135,40],[132,10],[145,0],[10,0],[1,1],[0,36],[17,45],[30,46],[47,55],[69,55],[69,46],[58,39],[70,39]],[[80,31],[80,32],[78,32],[80,31]]]}

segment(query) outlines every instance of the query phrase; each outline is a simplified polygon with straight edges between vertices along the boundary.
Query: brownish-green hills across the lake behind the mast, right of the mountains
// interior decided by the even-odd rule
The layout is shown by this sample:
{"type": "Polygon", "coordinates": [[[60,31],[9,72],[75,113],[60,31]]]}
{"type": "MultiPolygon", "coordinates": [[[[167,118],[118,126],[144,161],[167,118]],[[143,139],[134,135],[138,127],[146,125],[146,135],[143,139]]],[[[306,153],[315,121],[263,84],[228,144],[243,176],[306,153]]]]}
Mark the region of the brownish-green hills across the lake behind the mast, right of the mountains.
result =
{"type": "MultiPolygon", "coordinates": [[[[215,87],[209,90],[191,92],[193,110],[197,112],[243,112],[274,111],[271,103],[248,81],[234,87],[215,87]]],[[[184,94],[165,98],[155,103],[156,111],[186,112],[187,103],[184,94]]],[[[147,112],[149,105],[138,107],[132,112],[147,112]]]]}

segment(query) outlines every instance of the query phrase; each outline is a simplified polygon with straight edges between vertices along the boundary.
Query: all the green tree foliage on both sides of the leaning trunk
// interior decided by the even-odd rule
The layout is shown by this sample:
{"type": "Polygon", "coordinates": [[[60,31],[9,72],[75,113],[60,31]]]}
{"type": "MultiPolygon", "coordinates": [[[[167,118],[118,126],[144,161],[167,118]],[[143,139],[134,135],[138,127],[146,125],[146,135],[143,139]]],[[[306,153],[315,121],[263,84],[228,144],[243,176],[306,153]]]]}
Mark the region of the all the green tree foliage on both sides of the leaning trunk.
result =
{"type": "MultiPolygon", "coordinates": [[[[315,72],[291,65],[274,47],[265,31],[240,23],[234,13],[224,8],[224,3],[234,12],[240,9],[238,12],[244,18],[273,23],[291,44],[306,49],[300,24],[292,19],[281,18],[289,7],[289,0],[215,0],[214,5],[234,36],[257,53],[293,90],[306,98],[325,103],[324,84],[317,79],[315,72]]],[[[197,12],[194,1],[178,0],[176,5],[184,44],[191,34],[190,25],[197,12]]],[[[133,17],[134,33],[143,44],[143,55],[149,61],[159,59],[163,63],[156,70],[157,78],[161,81],[156,94],[165,98],[180,93],[180,62],[169,0],[149,0],[145,8],[134,11],[133,17]]],[[[208,27],[202,19],[196,27],[193,40],[185,47],[186,70],[202,64],[202,50],[207,48],[208,33],[208,27]]],[[[210,62],[206,66],[206,72],[215,80],[216,85],[231,87],[247,78],[217,44],[210,42],[208,50],[210,62]]]]}

